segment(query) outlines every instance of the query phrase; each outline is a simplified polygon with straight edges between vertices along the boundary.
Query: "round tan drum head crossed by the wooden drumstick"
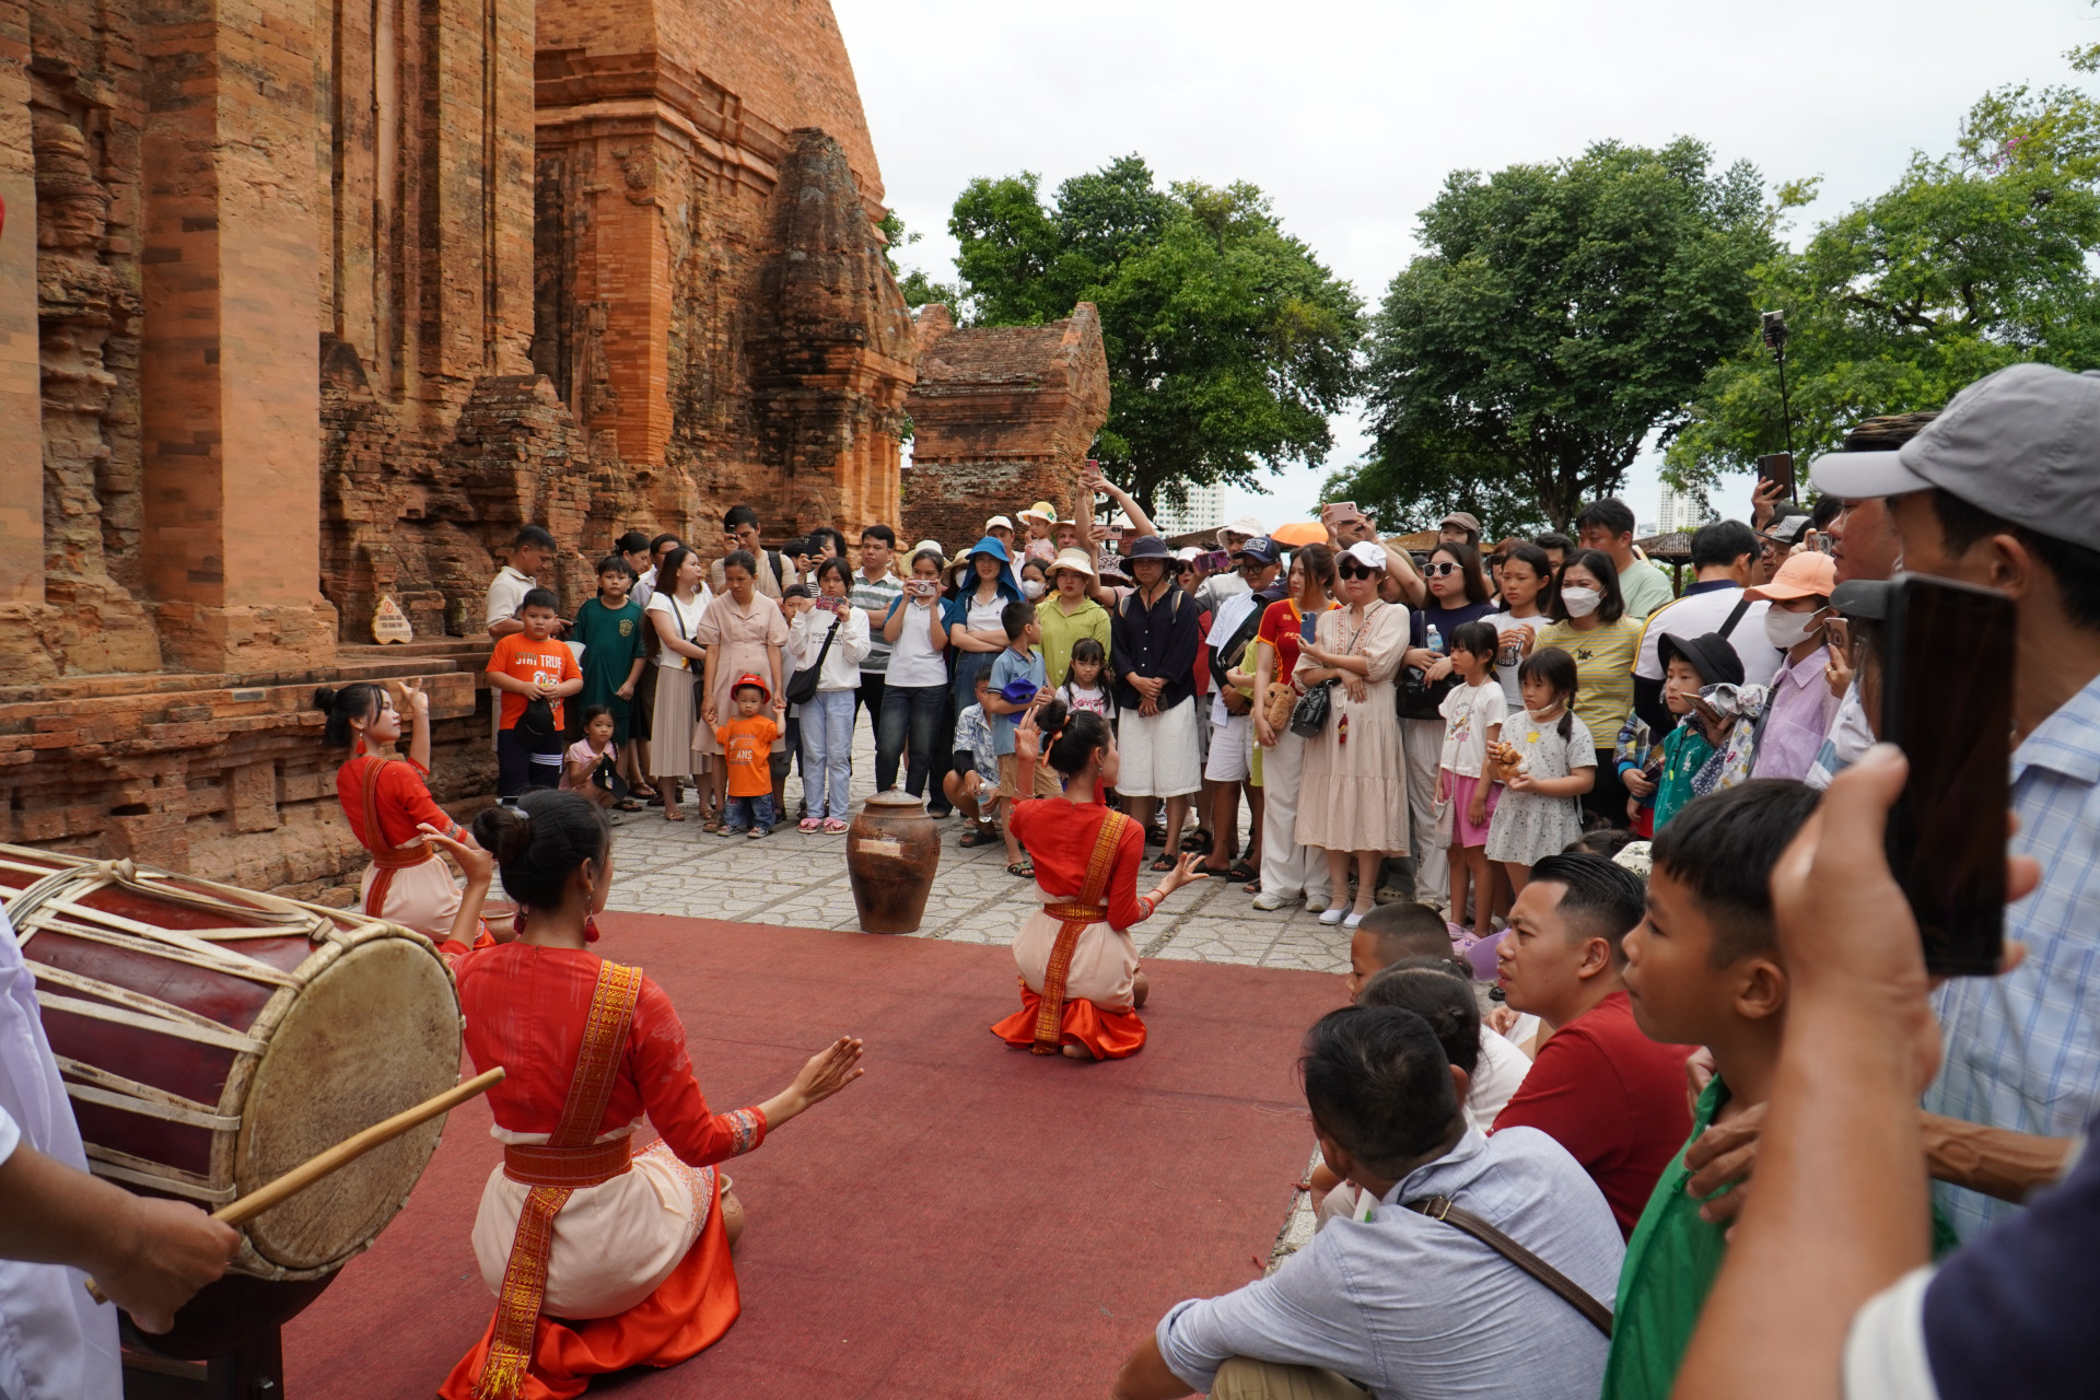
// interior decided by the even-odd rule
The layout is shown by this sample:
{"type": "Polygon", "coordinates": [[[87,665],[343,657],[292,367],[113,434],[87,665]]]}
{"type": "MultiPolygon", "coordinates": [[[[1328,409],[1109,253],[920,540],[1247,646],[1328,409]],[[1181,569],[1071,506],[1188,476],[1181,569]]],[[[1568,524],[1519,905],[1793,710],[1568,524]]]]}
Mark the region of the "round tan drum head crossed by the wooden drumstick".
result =
{"type": "MultiPolygon", "coordinates": [[[[239,1194],[443,1094],[460,1079],[460,1001],[443,959],[414,938],[361,942],[304,987],[269,1039],[233,1154],[239,1194]]],[[[422,1175],[443,1119],[365,1152],[248,1222],[271,1264],[338,1268],[370,1245],[422,1175]]]]}

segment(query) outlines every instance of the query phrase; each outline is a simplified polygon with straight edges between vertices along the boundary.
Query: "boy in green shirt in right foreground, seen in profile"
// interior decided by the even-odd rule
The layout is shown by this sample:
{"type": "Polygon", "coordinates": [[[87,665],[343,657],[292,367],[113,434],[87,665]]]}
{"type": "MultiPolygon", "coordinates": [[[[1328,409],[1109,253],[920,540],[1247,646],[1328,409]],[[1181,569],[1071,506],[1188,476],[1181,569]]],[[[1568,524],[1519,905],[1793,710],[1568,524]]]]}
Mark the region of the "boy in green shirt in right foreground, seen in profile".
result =
{"type": "MultiPolygon", "coordinates": [[[[1648,917],[1625,936],[1625,989],[1648,1039],[1714,1054],[1686,1146],[1772,1091],[1787,966],[1772,930],[1770,877],[1814,806],[1816,791],[1804,783],[1756,779],[1690,802],[1655,837],[1648,917]]],[[[1625,1245],[1604,1400],[1670,1394],[1720,1272],[1728,1226],[1703,1219],[1688,1180],[1680,1150],[1625,1245]]],[[[1951,1243],[1938,1222],[1934,1238],[1951,1243]]]]}

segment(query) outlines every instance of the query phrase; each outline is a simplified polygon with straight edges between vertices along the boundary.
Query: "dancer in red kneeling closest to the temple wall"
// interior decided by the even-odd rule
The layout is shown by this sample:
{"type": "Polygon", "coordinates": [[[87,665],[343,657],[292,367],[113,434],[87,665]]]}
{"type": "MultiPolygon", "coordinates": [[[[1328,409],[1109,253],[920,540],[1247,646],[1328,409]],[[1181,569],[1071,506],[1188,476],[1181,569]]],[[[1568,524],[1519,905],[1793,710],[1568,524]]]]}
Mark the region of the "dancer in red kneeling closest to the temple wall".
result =
{"type": "MultiPolygon", "coordinates": [[[[452,884],[452,869],[418,831],[437,827],[449,837],[462,831],[430,800],[430,697],[414,680],[401,682],[401,695],[407,703],[407,756],[393,751],[401,739],[401,712],[384,686],[321,686],[313,693],[313,707],[328,716],[321,739],[351,749],[336,768],[336,800],[351,835],[372,852],[359,907],[374,919],[443,942],[460,911],[460,890],[452,884]]],[[[466,942],[472,940],[468,932],[466,942]]]]}

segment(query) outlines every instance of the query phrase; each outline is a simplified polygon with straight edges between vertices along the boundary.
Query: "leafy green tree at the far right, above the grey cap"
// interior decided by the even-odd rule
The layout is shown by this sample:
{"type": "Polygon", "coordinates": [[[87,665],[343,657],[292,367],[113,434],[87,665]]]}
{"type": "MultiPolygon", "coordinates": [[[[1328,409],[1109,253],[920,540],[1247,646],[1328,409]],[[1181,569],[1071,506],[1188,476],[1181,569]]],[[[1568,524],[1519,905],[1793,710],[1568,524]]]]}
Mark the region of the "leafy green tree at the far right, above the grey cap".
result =
{"type": "MultiPolygon", "coordinates": [[[[2001,88],[1953,153],[1913,155],[1894,189],[1774,252],[1756,296],[1787,315],[1796,451],[1829,451],[1863,418],[1938,409],[2014,361],[2100,363],[2096,176],[2100,105],[2001,88]]],[[[1779,369],[1751,325],[1699,386],[1665,479],[1703,489],[1783,441],[1779,369]]]]}

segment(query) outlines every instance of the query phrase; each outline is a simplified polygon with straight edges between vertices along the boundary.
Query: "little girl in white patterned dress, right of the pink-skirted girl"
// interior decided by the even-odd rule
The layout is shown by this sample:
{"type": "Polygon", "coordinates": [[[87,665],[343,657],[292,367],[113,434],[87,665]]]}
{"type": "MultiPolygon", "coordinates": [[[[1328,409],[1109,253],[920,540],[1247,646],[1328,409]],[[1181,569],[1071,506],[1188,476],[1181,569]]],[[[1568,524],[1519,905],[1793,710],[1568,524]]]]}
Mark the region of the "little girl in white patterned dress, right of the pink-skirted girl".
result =
{"type": "Polygon", "coordinates": [[[1506,718],[1491,756],[1502,802],[1487,825],[1487,858],[1502,865],[1510,894],[1522,894],[1533,861],[1581,835],[1581,796],[1596,785],[1596,745],[1575,718],[1575,657],[1541,646],[1516,667],[1525,709],[1506,718]]]}

